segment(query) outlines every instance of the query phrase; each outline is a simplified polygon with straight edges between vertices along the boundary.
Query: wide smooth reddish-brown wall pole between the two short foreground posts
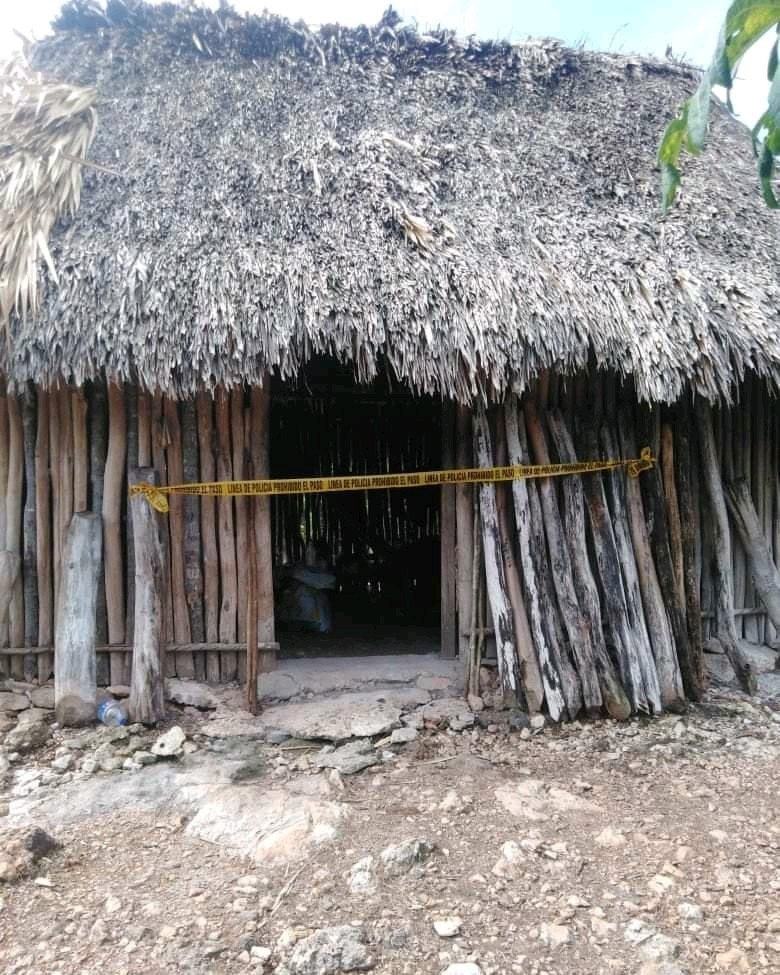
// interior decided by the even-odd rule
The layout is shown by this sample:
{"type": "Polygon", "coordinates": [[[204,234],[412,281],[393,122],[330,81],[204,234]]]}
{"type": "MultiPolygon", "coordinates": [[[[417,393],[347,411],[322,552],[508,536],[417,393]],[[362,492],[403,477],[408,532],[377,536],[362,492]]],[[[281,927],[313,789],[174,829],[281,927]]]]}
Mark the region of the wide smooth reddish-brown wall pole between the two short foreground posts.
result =
{"type": "MultiPolygon", "coordinates": [[[[106,617],[108,642],[125,639],[125,592],[122,572],[122,488],[127,450],[125,397],[122,387],[108,384],[108,452],[103,479],[103,552],[106,575],[106,617]]],[[[119,661],[117,661],[119,663],[119,661]]],[[[113,671],[113,682],[123,677],[121,667],[113,671]]]]}

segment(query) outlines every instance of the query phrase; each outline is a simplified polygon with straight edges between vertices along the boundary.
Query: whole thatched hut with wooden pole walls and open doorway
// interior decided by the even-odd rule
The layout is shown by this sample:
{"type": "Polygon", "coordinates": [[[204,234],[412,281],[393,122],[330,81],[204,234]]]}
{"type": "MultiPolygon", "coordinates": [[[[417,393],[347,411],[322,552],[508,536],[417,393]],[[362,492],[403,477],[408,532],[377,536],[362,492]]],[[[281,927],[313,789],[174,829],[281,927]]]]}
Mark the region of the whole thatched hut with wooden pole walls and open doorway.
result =
{"type": "MultiPolygon", "coordinates": [[[[697,698],[705,646],[751,686],[739,641],[778,625],[778,223],[720,110],[661,219],[654,147],[695,71],[392,11],[312,30],[140,0],[67,4],[31,58],[93,93],[85,145],[98,123],[26,304],[3,252],[7,673],[50,676],[64,532],[91,510],[100,673],[127,680],[136,468],[165,485],[649,447],[638,478],[173,495],[166,671],[245,679],[252,577],[269,650],[433,647],[472,685],[492,661],[556,719],[697,698]]],[[[48,158],[6,142],[6,190],[23,151],[48,158]]]]}

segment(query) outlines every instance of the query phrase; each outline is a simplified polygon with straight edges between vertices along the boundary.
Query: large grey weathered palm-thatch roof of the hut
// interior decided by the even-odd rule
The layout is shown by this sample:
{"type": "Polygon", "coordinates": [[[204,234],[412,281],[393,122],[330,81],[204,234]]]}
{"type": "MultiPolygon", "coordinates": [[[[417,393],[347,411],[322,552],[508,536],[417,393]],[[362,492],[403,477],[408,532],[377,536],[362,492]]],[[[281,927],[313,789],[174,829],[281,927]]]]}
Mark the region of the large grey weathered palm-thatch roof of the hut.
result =
{"type": "Polygon", "coordinates": [[[780,224],[724,112],[659,216],[690,69],[133,0],[66,10],[35,63],[97,88],[120,174],[85,173],[17,378],[189,392],[328,354],[465,400],[593,356],[653,400],[780,384],[780,224]]]}

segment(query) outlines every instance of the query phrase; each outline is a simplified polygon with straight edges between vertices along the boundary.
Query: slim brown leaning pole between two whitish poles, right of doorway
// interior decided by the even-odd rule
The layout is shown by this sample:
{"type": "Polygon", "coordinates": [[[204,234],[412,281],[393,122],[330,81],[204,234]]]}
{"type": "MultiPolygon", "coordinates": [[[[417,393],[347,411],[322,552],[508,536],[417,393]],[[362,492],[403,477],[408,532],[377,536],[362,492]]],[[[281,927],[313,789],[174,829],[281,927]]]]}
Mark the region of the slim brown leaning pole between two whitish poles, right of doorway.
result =
{"type": "MultiPolygon", "coordinates": [[[[503,410],[499,412],[496,423],[496,463],[505,466],[507,462],[506,426],[503,410]]],[[[506,577],[509,605],[512,607],[512,618],[515,626],[515,646],[520,661],[520,676],[525,696],[526,709],[530,714],[536,714],[544,703],[544,686],[539,663],[536,659],[531,627],[528,622],[528,612],[520,588],[520,576],[515,561],[513,525],[510,518],[512,505],[509,487],[506,484],[496,485],[496,510],[498,512],[498,532],[501,542],[501,555],[504,559],[504,575],[506,577]]]]}

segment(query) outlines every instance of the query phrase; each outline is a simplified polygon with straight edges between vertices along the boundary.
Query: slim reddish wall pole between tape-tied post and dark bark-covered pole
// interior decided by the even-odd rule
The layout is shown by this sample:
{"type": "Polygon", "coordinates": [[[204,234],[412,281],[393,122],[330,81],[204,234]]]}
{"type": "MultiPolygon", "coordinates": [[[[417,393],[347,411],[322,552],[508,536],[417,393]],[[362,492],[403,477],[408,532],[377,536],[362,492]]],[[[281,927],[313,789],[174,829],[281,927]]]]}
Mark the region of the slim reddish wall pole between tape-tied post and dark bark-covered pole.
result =
{"type": "MultiPolygon", "coordinates": [[[[166,460],[168,480],[171,484],[181,484],[184,480],[184,465],[181,452],[181,426],[176,401],[166,396],[163,401],[165,425],[167,428],[166,460]]],[[[190,612],[184,583],[184,498],[172,494],[169,498],[170,513],[168,530],[170,532],[171,559],[171,601],[173,608],[173,639],[176,643],[190,643],[190,612]]],[[[176,673],[179,677],[195,676],[195,661],[186,654],[176,658],[176,673]]]]}

